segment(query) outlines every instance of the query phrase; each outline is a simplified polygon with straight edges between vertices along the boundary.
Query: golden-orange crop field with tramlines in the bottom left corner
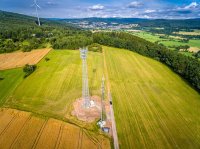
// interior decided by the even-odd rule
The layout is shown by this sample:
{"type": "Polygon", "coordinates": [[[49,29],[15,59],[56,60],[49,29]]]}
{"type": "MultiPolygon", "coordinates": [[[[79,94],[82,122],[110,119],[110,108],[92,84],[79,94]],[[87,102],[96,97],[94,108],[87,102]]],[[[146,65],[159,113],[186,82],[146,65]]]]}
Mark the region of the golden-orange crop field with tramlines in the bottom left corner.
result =
{"type": "Polygon", "coordinates": [[[0,148],[110,148],[109,139],[55,119],[0,109],[0,148]]]}

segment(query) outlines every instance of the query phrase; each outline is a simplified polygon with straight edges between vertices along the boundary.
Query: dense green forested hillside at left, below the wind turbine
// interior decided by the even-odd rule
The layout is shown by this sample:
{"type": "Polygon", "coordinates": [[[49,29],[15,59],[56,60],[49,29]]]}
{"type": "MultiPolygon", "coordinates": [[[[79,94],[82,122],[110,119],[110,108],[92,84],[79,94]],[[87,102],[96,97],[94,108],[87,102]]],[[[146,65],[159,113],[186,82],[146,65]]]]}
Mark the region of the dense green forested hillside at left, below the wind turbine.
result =
{"type": "Polygon", "coordinates": [[[0,53],[30,51],[52,45],[53,48],[76,49],[92,43],[91,32],[69,24],[0,11],[0,53]],[[88,38],[89,37],[89,38],[88,38]]]}

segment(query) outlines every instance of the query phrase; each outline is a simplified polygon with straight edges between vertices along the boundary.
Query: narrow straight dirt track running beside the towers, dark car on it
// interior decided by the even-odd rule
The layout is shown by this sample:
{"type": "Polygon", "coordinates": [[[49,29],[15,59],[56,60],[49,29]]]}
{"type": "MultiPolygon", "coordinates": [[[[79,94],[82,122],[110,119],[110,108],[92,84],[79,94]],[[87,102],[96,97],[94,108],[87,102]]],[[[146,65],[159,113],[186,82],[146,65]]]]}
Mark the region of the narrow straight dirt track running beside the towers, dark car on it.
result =
{"type": "MultiPolygon", "coordinates": [[[[109,102],[112,103],[112,95],[110,92],[110,81],[109,81],[109,77],[108,77],[108,69],[107,69],[104,50],[103,50],[103,58],[104,58],[105,75],[106,75],[106,80],[107,80],[106,84],[107,84],[108,97],[109,97],[109,102]]],[[[112,122],[112,133],[113,133],[112,135],[113,135],[113,141],[114,141],[114,148],[119,149],[117,129],[116,129],[116,123],[115,123],[115,115],[114,115],[114,110],[113,110],[113,103],[110,104],[110,116],[111,116],[111,122],[112,122]]]]}

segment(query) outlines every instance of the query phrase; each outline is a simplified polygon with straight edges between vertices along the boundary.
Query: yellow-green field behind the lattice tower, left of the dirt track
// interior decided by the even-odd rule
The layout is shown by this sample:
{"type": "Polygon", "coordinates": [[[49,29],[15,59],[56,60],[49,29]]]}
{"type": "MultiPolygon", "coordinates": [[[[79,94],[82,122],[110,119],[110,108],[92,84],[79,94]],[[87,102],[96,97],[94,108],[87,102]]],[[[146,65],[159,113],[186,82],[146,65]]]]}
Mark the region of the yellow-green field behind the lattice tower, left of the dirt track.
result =
{"type": "MultiPolygon", "coordinates": [[[[37,70],[23,79],[7,97],[5,105],[48,116],[69,118],[73,102],[82,93],[80,53],[77,50],[52,50],[47,57],[50,60],[43,59],[37,65],[37,70]]],[[[89,53],[88,74],[92,95],[100,95],[102,63],[101,53],[89,53]]],[[[5,82],[2,83],[6,83],[6,80],[3,81],[5,82]]]]}

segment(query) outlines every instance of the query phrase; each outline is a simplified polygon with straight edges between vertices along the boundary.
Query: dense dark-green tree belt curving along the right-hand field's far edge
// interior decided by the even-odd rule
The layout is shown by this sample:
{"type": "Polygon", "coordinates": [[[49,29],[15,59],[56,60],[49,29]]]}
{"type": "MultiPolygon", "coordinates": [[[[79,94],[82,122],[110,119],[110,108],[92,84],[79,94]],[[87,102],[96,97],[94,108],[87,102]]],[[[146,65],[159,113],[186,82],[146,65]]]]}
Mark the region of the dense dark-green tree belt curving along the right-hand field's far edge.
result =
{"type": "Polygon", "coordinates": [[[200,61],[198,59],[185,56],[169,50],[165,46],[151,43],[127,33],[95,33],[93,40],[99,44],[129,49],[161,61],[200,90],[200,61]]]}

